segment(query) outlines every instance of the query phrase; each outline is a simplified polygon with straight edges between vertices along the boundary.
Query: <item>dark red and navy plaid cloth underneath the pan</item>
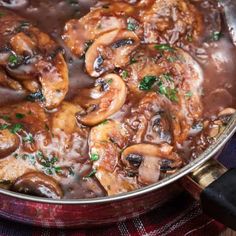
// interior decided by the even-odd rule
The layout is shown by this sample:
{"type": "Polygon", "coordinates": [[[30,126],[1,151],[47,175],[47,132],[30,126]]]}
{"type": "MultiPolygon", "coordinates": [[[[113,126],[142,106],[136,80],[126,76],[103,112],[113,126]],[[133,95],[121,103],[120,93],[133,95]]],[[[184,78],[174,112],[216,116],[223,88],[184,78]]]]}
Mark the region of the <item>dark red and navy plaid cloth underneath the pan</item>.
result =
{"type": "MultiPolygon", "coordinates": [[[[236,135],[219,158],[226,166],[236,167],[235,153],[236,135]]],[[[101,228],[43,229],[0,221],[1,236],[216,236],[224,228],[204,215],[199,203],[187,193],[143,216],[101,228]]]]}

